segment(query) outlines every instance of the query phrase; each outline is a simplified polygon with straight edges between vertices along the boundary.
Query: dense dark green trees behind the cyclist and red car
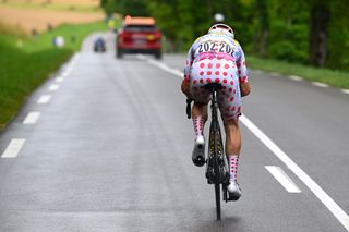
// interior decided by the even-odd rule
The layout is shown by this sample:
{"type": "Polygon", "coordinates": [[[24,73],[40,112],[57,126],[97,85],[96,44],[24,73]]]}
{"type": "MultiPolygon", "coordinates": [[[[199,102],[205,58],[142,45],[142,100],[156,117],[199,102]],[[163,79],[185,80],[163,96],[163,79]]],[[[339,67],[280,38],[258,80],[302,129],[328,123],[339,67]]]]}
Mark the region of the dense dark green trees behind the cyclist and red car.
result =
{"type": "Polygon", "coordinates": [[[246,53],[349,70],[346,0],[100,0],[107,13],[153,16],[173,49],[188,50],[215,23],[236,33],[246,53]]]}

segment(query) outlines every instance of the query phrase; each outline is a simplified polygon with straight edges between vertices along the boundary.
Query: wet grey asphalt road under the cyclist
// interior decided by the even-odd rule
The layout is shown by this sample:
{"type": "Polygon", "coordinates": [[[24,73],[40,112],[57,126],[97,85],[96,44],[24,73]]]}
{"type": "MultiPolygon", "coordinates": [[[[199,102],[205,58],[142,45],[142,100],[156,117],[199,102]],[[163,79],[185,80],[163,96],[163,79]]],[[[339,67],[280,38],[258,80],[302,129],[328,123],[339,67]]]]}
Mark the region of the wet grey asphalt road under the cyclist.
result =
{"type": "Polygon", "coordinates": [[[112,36],[106,53],[92,52],[95,37],[0,135],[1,232],[349,231],[349,95],[251,71],[243,196],[217,222],[214,188],[191,162],[184,57],[117,60],[112,36]]]}

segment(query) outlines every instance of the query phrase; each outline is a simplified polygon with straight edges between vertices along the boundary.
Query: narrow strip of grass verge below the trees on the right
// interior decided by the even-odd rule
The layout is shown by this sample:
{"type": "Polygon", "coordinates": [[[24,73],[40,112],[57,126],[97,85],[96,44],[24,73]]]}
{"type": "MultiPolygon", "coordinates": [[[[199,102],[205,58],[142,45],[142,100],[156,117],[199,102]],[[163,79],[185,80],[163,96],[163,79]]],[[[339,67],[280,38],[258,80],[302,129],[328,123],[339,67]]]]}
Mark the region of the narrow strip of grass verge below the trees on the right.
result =
{"type": "Polygon", "coordinates": [[[304,80],[326,83],[338,88],[349,89],[349,72],[305,66],[302,64],[248,57],[248,64],[254,70],[278,72],[284,75],[297,75],[304,80]]]}

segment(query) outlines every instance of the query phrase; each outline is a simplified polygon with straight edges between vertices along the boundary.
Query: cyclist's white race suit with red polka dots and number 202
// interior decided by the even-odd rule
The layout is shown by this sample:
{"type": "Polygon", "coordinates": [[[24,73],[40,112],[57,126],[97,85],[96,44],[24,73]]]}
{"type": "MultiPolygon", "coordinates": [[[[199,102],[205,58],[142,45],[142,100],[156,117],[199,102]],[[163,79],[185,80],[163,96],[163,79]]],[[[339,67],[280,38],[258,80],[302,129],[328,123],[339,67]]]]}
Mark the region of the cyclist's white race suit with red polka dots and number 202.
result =
{"type": "Polygon", "coordinates": [[[219,83],[218,106],[225,120],[237,119],[241,111],[240,83],[248,82],[244,54],[233,38],[220,34],[207,34],[192,45],[184,69],[192,97],[207,103],[209,91],[203,86],[219,83]]]}

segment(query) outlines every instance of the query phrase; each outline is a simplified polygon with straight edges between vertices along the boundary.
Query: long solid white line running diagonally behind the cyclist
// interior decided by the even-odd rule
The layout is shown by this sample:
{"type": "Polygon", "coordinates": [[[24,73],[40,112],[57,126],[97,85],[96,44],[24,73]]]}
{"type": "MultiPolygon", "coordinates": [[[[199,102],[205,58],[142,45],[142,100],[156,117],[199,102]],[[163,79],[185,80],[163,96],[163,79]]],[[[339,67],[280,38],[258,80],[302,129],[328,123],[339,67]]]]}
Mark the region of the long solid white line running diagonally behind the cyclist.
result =
{"type": "MultiPolygon", "coordinates": [[[[139,59],[146,60],[148,63],[161,69],[161,63],[139,54],[139,59]],[[152,60],[152,62],[151,62],[152,60]]],[[[167,65],[166,65],[167,66],[167,65]]],[[[170,68],[164,69],[168,71],[170,68]]],[[[176,70],[174,70],[176,71],[176,70]]],[[[168,71],[169,72],[169,71],[168,71]]],[[[179,75],[177,72],[170,72],[181,78],[183,74],[179,75]]],[[[299,168],[293,160],[291,160],[268,136],[266,136],[254,123],[252,123],[245,115],[240,117],[240,121],[266,146],[274,155],[279,158],[308,187],[313,194],[326,206],[326,208],[337,218],[337,220],[349,231],[349,216],[338,206],[338,204],[311,179],[301,168],[299,168]]]]}

